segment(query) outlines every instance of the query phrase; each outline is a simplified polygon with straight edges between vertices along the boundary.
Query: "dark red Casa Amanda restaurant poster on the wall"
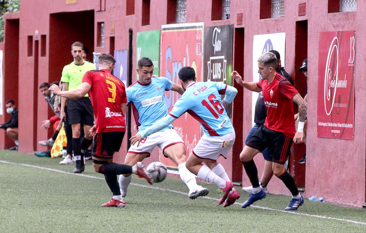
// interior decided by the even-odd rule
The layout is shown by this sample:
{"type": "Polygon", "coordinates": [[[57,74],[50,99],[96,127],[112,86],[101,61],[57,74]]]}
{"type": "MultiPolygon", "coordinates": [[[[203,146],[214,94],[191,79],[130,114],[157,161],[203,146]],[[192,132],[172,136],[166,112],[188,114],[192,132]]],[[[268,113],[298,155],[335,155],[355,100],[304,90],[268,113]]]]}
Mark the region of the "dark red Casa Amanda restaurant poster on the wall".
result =
{"type": "Polygon", "coordinates": [[[355,57],[355,31],[320,33],[318,137],[354,139],[355,57]]]}

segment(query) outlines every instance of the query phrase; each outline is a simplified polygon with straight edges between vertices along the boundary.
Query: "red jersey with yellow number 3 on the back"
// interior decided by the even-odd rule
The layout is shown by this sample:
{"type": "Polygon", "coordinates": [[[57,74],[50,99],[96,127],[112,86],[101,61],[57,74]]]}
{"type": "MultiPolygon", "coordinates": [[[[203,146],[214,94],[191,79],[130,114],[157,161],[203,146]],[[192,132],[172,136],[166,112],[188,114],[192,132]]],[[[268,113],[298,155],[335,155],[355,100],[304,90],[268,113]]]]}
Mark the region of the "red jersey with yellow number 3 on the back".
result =
{"type": "Polygon", "coordinates": [[[96,132],[125,132],[121,105],[127,103],[127,97],[122,81],[108,69],[101,69],[86,72],[82,82],[91,85],[88,94],[96,118],[96,132]]]}

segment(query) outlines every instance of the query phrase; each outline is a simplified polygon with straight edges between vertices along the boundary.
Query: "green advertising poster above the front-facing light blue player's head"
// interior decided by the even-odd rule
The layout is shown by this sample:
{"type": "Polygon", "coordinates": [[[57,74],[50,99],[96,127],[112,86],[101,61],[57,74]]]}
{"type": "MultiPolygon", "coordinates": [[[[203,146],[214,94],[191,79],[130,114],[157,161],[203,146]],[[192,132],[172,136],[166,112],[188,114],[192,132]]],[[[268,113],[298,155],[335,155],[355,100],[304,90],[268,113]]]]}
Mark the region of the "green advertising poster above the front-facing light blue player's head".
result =
{"type": "Polygon", "coordinates": [[[136,67],[141,57],[149,57],[154,64],[154,75],[159,75],[160,30],[137,33],[136,67]]]}

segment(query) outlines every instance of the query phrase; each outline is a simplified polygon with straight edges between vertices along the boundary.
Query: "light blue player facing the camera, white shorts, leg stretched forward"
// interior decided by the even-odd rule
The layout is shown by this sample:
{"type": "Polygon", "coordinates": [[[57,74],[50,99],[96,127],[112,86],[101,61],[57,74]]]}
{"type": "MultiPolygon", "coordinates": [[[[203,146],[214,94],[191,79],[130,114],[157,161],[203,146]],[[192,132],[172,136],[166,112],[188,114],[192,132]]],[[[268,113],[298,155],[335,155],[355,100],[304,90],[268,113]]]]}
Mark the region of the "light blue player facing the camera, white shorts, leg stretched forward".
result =
{"type": "MultiPolygon", "coordinates": [[[[172,83],[164,77],[153,78],[154,65],[152,61],[143,57],[138,61],[138,80],[126,89],[127,103],[131,104],[138,132],[152,126],[156,121],[168,115],[165,104],[164,92],[168,90],[183,94],[182,86],[172,83]]],[[[172,124],[144,137],[139,146],[131,145],[126,159],[127,165],[134,165],[144,158],[149,157],[154,148],[158,146],[165,157],[170,158],[177,166],[180,178],[188,186],[188,197],[195,199],[205,196],[209,190],[197,185],[194,174],[186,168],[186,146],[173,129],[172,124]]],[[[131,183],[131,174],[119,177],[122,196],[127,194],[127,187],[131,183]]]]}

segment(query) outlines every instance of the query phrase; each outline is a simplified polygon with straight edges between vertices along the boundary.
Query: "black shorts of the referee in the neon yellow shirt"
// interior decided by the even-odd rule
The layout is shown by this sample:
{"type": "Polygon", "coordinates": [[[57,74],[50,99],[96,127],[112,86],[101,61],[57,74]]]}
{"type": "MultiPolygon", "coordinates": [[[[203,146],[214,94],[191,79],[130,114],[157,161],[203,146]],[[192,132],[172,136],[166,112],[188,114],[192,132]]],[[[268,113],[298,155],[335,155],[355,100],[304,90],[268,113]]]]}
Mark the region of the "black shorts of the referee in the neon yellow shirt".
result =
{"type": "Polygon", "coordinates": [[[83,125],[94,124],[93,106],[91,106],[89,97],[67,99],[67,115],[70,125],[76,123],[83,125]]]}

